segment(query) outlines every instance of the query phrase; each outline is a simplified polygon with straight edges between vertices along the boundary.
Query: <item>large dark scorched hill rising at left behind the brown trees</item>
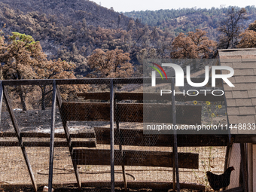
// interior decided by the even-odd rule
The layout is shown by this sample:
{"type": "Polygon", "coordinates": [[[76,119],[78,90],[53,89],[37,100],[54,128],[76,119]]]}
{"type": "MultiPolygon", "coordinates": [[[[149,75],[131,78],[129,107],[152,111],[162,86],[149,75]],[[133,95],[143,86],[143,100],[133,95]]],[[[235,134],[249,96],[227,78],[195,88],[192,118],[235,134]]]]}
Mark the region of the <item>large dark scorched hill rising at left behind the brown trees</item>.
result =
{"type": "Polygon", "coordinates": [[[61,58],[75,62],[76,75],[87,75],[87,56],[96,48],[122,49],[138,64],[137,53],[155,47],[163,32],[152,34],[151,26],[135,22],[90,1],[25,1],[0,2],[0,27],[5,36],[11,32],[32,35],[40,41],[48,59],[61,58]],[[151,38],[151,34],[154,38],[151,38]]]}

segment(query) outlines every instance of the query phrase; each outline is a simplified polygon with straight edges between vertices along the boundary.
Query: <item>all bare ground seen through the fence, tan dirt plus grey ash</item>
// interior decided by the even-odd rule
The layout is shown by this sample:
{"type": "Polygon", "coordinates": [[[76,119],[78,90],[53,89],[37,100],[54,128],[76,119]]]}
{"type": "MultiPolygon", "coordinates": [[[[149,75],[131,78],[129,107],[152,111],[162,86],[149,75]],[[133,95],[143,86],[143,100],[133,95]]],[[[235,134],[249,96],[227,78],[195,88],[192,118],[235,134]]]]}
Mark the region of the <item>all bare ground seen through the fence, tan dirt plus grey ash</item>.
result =
{"type": "MultiPolygon", "coordinates": [[[[206,106],[207,107],[207,106],[206,106]]],[[[222,109],[218,110],[221,111],[222,109]]],[[[17,117],[20,129],[23,132],[38,132],[50,133],[50,110],[46,111],[14,111],[17,117]]],[[[219,114],[221,114],[219,112],[219,114]]],[[[223,112],[222,112],[223,114],[223,112]]],[[[207,114],[204,114],[205,121],[209,119],[207,114]]],[[[225,122],[223,115],[218,115],[214,118],[214,123],[225,122]]],[[[93,132],[94,126],[106,126],[105,122],[70,122],[69,130],[71,133],[93,132]]],[[[127,126],[127,125],[126,125],[127,126]]],[[[131,124],[130,126],[134,126],[131,124]]],[[[2,112],[1,132],[14,132],[11,119],[8,112],[2,112]]],[[[56,111],[56,129],[55,133],[63,133],[62,123],[59,111],[56,111]]],[[[3,138],[0,141],[17,141],[17,138],[3,138]]],[[[50,139],[24,138],[24,141],[50,141],[50,139]]],[[[66,141],[65,139],[55,138],[55,141],[66,141]]],[[[96,145],[96,148],[109,149],[108,145],[96,145]]],[[[115,146],[118,149],[118,146],[115,146]]],[[[123,149],[133,150],[148,150],[148,151],[172,151],[172,148],[157,148],[157,147],[133,147],[124,146],[123,149]]],[[[49,148],[33,147],[26,148],[29,161],[32,165],[32,170],[35,175],[35,180],[38,183],[39,191],[42,191],[44,184],[47,184],[48,174],[47,167],[49,165],[49,148]]],[[[211,169],[213,172],[223,172],[224,168],[224,147],[215,148],[178,148],[178,152],[192,152],[200,154],[199,169],[179,169],[181,183],[202,184],[207,185],[205,172],[211,169]],[[210,162],[210,163],[209,163],[210,162]]],[[[19,147],[0,147],[0,191],[33,191],[32,188],[26,189],[11,188],[8,189],[6,184],[31,184],[29,172],[26,167],[23,154],[19,147]],[[5,187],[3,187],[5,186],[5,187]],[[2,188],[1,188],[2,187],[2,188]]],[[[75,183],[75,174],[72,172],[72,160],[68,148],[54,148],[54,170],[53,184],[75,183]]],[[[110,181],[110,166],[79,166],[81,181],[110,181]]],[[[115,171],[121,171],[120,166],[115,167],[115,171]]],[[[138,167],[126,166],[128,181],[172,181],[172,168],[165,167],[138,167]]],[[[115,181],[122,181],[122,174],[115,174],[115,181]]],[[[77,188],[58,187],[55,191],[77,191],[77,188]]],[[[110,191],[109,188],[83,188],[82,191],[110,191]]],[[[117,188],[116,191],[124,191],[117,188]]],[[[151,189],[139,189],[129,191],[160,191],[151,189]]],[[[168,189],[163,190],[168,191],[168,189]]],[[[182,190],[193,191],[193,190],[182,190]]],[[[194,190],[197,191],[197,190],[194,190]]]]}

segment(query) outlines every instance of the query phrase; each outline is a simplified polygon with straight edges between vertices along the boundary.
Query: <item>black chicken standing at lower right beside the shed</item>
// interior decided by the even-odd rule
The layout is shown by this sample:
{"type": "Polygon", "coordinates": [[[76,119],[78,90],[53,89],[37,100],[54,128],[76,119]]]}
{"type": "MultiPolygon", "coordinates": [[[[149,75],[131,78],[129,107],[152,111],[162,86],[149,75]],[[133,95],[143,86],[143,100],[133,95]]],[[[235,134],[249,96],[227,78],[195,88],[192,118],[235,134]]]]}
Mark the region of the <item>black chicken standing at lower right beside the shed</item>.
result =
{"type": "Polygon", "coordinates": [[[209,184],[212,189],[218,191],[223,187],[227,187],[230,184],[230,174],[233,170],[235,170],[233,166],[230,166],[221,175],[215,175],[212,172],[206,172],[209,184]]]}

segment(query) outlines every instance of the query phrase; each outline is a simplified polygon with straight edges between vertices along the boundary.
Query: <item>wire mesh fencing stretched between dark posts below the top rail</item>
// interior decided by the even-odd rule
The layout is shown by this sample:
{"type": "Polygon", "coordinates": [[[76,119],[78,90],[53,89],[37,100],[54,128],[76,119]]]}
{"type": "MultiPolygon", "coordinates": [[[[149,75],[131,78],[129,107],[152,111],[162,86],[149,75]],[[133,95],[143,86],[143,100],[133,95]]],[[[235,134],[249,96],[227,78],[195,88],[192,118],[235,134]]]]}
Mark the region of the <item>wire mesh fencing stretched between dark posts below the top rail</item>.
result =
{"type": "MultiPolygon", "coordinates": [[[[70,187],[78,187],[78,180],[84,191],[89,190],[85,188],[89,186],[97,190],[110,187],[109,82],[109,79],[56,81],[53,187],[57,191],[63,186],[66,191],[70,187]],[[78,169],[78,175],[74,172],[74,166],[78,169]]],[[[13,118],[17,120],[16,129],[20,130],[22,145],[26,149],[38,190],[42,190],[44,185],[48,186],[53,86],[51,82],[41,84],[41,81],[28,84],[4,86],[13,111],[13,114],[8,111],[4,97],[0,128],[0,187],[5,191],[20,191],[22,185],[30,186],[26,190],[35,190],[31,187],[31,175],[13,118]]],[[[128,182],[128,188],[145,188],[150,187],[150,183],[158,182],[168,190],[173,182],[173,137],[170,134],[143,134],[143,106],[157,102],[145,102],[143,92],[141,78],[114,82],[114,181],[121,188],[125,187],[123,180],[128,182]]],[[[163,104],[172,103],[164,101],[163,104]]],[[[227,121],[223,102],[176,99],[175,104],[201,105],[200,118],[203,123],[227,121]]],[[[217,174],[224,171],[227,138],[217,138],[222,141],[219,143],[209,140],[202,142],[200,139],[193,135],[178,136],[179,181],[181,188],[187,190],[197,191],[209,186],[207,171],[217,174]]]]}

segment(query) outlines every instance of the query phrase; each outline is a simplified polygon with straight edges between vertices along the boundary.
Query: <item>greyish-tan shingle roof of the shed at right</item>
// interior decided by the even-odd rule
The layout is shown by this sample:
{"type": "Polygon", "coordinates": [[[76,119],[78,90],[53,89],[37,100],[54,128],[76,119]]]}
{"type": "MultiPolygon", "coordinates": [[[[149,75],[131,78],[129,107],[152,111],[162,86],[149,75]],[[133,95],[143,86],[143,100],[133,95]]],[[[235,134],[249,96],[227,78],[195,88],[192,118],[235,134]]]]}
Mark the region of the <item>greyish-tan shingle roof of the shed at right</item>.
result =
{"type": "MultiPolygon", "coordinates": [[[[235,87],[224,83],[229,123],[255,123],[256,49],[218,50],[218,56],[221,66],[230,66],[235,72],[233,77],[229,78],[235,87]]],[[[232,130],[231,133],[256,134],[256,130],[232,130]]]]}

